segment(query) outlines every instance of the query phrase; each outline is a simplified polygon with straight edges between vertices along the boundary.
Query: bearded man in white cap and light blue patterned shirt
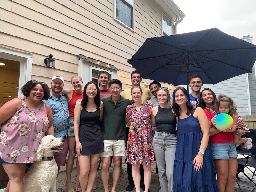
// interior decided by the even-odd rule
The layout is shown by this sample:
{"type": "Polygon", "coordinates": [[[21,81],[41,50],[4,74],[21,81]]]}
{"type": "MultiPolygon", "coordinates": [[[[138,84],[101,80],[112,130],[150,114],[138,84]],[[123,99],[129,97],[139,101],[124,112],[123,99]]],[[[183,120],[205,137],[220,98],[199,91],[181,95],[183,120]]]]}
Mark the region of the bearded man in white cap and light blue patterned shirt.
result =
{"type": "Polygon", "coordinates": [[[61,146],[63,149],[54,154],[54,159],[58,166],[58,173],[60,166],[65,166],[68,153],[68,140],[66,139],[68,127],[68,100],[66,96],[61,93],[63,86],[64,80],[61,76],[52,77],[50,97],[46,100],[46,103],[52,109],[54,136],[65,139],[64,144],[61,146]]]}

